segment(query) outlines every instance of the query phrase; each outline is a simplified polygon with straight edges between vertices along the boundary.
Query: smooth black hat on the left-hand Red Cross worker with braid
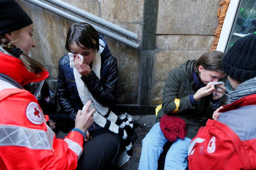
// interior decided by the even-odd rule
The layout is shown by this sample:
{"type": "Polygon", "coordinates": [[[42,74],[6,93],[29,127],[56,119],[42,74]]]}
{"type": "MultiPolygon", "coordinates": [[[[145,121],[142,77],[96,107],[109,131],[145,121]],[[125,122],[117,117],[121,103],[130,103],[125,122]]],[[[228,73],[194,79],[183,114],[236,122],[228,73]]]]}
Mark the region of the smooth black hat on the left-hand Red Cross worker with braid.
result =
{"type": "Polygon", "coordinates": [[[31,18],[15,0],[0,0],[0,35],[32,23],[31,18]]]}

